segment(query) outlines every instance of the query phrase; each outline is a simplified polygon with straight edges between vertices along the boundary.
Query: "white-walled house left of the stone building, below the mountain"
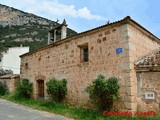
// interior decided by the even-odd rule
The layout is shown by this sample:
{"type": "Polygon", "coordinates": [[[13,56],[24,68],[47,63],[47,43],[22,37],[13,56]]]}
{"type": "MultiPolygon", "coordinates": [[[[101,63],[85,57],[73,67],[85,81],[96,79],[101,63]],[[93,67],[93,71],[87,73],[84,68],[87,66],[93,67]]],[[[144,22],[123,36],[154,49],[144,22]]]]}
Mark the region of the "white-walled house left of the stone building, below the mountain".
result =
{"type": "Polygon", "coordinates": [[[29,47],[12,47],[0,53],[0,69],[12,70],[20,74],[20,55],[29,52],[29,47]]]}

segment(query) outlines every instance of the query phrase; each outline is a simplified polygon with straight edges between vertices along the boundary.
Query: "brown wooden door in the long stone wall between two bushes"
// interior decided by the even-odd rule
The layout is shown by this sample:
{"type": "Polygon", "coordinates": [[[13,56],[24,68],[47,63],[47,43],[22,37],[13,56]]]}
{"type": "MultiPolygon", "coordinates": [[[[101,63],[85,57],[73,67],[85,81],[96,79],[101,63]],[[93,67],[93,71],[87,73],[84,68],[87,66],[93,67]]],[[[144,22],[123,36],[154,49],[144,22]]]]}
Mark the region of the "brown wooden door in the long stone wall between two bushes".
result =
{"type": "Polygon", "coordinates": [[[38,98],[44,98],[44,80],[38,80],[38,98]]]}

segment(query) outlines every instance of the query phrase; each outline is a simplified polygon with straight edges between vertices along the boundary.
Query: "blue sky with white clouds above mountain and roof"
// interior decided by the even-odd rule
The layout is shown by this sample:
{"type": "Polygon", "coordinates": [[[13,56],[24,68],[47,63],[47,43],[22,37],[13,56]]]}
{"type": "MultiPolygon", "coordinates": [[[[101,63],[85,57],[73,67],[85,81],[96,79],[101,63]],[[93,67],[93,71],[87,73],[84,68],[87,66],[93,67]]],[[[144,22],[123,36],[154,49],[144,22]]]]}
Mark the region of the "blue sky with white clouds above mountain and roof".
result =
{"type": "Polygon", "coordinates": [[[0,0],[0,3],[83,32],[130,16],[160,38],[160,0],[0,0]]]}

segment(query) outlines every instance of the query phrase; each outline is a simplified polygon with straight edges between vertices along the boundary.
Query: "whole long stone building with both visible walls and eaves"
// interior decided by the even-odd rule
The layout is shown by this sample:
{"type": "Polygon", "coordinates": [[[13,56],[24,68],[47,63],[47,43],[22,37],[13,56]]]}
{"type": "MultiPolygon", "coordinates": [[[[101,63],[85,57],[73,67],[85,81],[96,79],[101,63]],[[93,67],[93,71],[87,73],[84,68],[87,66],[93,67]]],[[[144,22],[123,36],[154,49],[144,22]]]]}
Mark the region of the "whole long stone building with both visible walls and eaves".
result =
{"type": "Polygon", "coordinates": [[[121,86],[123,104],[120,107],[137,111],[135,62],[159,47],[156,36],[126,17],[22,55],[21,78],[28,78],[33,83],[36,99],[39,94],[48,98],[45,83],[49,79],[65,78],[68,80],[66,101],[75,106],[87,106],[90,100],[85,88],[93,79],[99,74],[116,76],[121,86]]]}

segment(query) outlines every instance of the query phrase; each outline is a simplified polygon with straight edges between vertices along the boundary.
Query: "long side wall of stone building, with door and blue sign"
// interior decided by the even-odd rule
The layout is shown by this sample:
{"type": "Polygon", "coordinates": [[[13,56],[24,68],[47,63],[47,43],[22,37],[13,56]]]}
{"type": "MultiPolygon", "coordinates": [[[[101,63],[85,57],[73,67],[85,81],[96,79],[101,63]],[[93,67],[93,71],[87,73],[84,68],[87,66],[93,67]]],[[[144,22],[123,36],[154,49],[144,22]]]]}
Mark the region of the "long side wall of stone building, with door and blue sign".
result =
{"type": "MultiPolygon", "coordinates": [[[[28,78],[34,83],[34,98],[37,98],[36,81],[38,79],[43,79],[46,83],[53,77],[65,78],[68,80],[66,101],[75,106],[88,106],[89,96],[85,92],[86,86],[99,74],[106,77],[116,76],[121,85],[120,94],[124,97],[126,95],[125,80],[129,76],[127,38],[127,24],[124,24],[96,29],[78,37],[69,38],[59,45],[55,43],[52,47],[22,57],[21,78],[28,78]],[[79,46],[84,44],[88,44],[88,63],[80,62],[79,46]],[[122,48],[122,54],[116,54],[116,48],[122,48]]],[[[47,97],[45,91],[45,98],[47,97]]]]}

